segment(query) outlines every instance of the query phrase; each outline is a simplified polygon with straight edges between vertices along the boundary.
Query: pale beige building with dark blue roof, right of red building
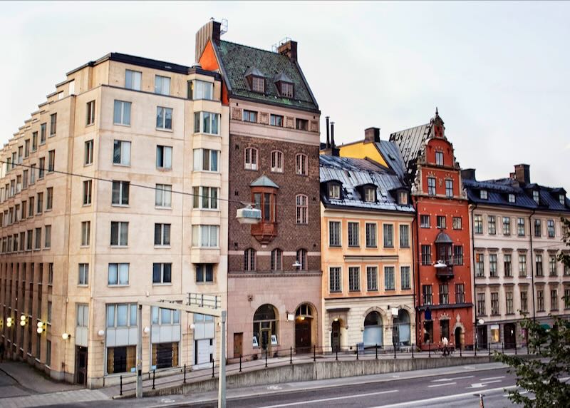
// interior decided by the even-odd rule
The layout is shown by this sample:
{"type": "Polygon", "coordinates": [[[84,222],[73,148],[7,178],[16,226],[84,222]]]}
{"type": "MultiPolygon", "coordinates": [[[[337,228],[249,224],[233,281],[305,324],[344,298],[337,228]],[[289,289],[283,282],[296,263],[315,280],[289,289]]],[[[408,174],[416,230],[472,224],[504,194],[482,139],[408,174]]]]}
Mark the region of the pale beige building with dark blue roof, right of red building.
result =
{"type": "Polygon", "coordinates": [[[563,188],[530,182],[529,165],[509,178],[477,181],[463,170],[470,200],[475,320],[480,348],[521,347],[524,315],[551,327],[550,315],[570,315],[570,270],[556,258],[566,251],[560,218],[569,218],[563,188]]]}

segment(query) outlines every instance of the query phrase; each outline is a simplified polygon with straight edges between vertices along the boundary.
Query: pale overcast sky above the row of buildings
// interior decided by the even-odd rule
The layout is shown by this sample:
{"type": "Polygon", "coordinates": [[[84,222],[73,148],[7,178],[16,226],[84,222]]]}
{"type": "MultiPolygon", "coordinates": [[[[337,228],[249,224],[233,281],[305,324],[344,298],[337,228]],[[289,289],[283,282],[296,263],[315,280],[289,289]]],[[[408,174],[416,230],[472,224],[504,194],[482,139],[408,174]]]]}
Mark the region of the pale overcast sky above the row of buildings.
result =
{"type": "Polygon", "coordinates": [[[335,140],[380,138],[439,108],[477,179],[530,165],[570,192],[570,2],[1,2],[0,143],[65,73],[109,52],[191,65],[195,33],[271,50],[289,37],[335,140]]]}

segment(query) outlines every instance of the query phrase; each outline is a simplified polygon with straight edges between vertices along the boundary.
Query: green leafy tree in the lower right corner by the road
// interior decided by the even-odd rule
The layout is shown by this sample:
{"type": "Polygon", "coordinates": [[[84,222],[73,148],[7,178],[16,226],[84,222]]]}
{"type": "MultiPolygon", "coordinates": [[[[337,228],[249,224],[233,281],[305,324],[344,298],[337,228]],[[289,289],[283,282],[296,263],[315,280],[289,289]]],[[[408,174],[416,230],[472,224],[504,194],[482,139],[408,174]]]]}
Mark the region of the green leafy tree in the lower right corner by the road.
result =
{"type": "MultiPolygon", "coordinates": [[[[570,246],[570,221],[564,218],[563,241],[570,246]]],[[[560,252],[558,259],[570,267],[570,255],[560,252]]],[[[570,300],[564,299],[564,303],[570,300]]],[[[522,327],[527,329],[529,352],[539,358],[497,353],[496,358],[508,364],[509,372],[517,374],[517,389],[509,391],[509,399],[524,407],[568,407],[570,383],[562,378],[570,375],[570,322],[562,317],[552,317],[554,324],[546,330],[536,320],[525,319],[522,327]],[[528,390],[529,394],[521,394],[528,390]]]]}

